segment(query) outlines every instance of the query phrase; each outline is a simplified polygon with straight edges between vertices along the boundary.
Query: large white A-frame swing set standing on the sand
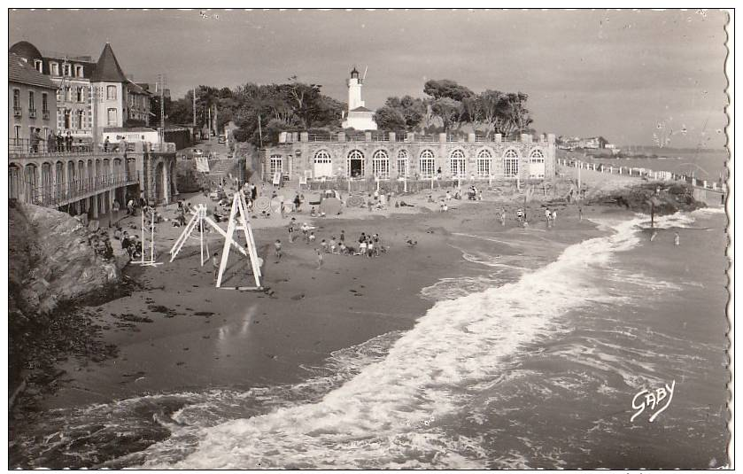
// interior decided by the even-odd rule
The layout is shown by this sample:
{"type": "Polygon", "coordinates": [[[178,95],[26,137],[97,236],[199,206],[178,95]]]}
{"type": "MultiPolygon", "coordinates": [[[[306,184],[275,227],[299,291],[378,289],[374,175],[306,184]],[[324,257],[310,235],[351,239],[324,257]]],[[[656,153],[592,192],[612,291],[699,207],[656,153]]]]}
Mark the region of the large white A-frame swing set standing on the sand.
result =
{"type": "Polygon", "coordinates": [[[235,286],[235,287],[224,287],[227,290],[260,290],[260,259],[258,252],[256,251],[255,239],[252,233],[252,227],[249,220],[249,214],[245,206],[243,194],[236,192],[232,198],[232,207],[229,212],[228,227],[227,231],[221,229],[215,221],[206,215],[206,206],[199,204],[196,210],[191,211],[191,219],[183,229],[181,236],[175,241],[173,248],[170,250],[170,261],[175,260],[175,257],[181,252],[183,245],[186,243],[191,235],[198,231],[199,245],[201,247],[201,266],[203,267],[205,262],[209,260],[209,244],[204,238],[204,223],[210,225],[214,230],[219,232],[224,237],[224,246],[222,248],[222,257],[220,262],[220,269],[217,274],[217,288],[221,288],[222,276],[227,268],[227,261],[229,258],[230,247],[235,247],[239,253],[248,257],[251,261],[252,274],[255,279],[255,286],[235,286]],[[235,238],[236,230],[242,230],[245,237],[246,248],[239,245],[235,238]],[[247,249],[247,250],[246,250],[247,249]]]}

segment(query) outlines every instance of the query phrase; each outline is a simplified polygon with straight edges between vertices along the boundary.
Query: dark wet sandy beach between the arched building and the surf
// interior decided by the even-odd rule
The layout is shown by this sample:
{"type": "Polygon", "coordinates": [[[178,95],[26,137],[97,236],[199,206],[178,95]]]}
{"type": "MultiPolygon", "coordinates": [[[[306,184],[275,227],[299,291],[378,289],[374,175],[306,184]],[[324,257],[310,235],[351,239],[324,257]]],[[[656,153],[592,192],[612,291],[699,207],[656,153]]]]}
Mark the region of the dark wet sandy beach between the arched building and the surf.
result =
{"type": "MultiPolygon", "coordinates": [[[[544,222],[534,222],[534,229],[516,227],[514,205],[507,206],[512,209],[503,227],[493,202],[453,200],[450,211],[439,213],[432,211],[437,204],[426,203],[427,196],[406,197],[413,207],[388,211],[358,208],[344,209],[344,214],[332,218],[311,218],[305,212],[287,214],[283,220],[253,219],[259,255],[266,262],[265,292],[229,289],[252,285],[247,261],[238,259],[236,252],[230,256],[225,288],[214,288],[211,260],[199,265],[197,238],[168,262],[167,251],[182,228],[159,224],[156,249],[158,260],[166,263],[139,267],[133,262],[126,274],[143,284],[143,291],[94,308],[104,341],[118,346],[119,356],[100,363],[66,362],[62,369],[69,375],[68,383],[44,400],[44,408],[191,387],[296,383],[306,377],[303,367],[321,365],[333,351],[410,329],[432,304],[422,298],[422,288],[441,278],[478,273],[478,265],[463,261],[456,245],[467,237],[456,234],[490,229],[544,238],[544,222]],[[315,245],[304,242],[300,232],[289,243],[290,217],[315,228],[315,245]],[[341,230],[346,242],[357,240],[361,232],[378,233],[389,251],[371,259],[325,254],[322,268],[316,269],[314,247],[322,238],[339,236],[341,230]],[[406,245],[408,237],[418,244],[406,245]],[[282,240],[281,260],[274,255],[275,239],[282,240]]],[[[204,198],[189,200],[196,204],[204,198]]],[[[536,215],[539,205],[531,206],[536,215]]],[[[160,212],[172,217],[174,207],[160,212]]],[[[574,222],[572,214],[574,209],[561,210],[549,245],[530,249],[529,259],[554,258],[564,246],[591,234],[590,221],[574,222]]],[[[138,224],[138,217],[120,223],[127,229],[128,224],[138,224]]],[[[224,223],[222,227],[226,229],[224,223]]],[[[221,236],[212,232],[207,238],[212,253],[221,253],[221,236]]]]}

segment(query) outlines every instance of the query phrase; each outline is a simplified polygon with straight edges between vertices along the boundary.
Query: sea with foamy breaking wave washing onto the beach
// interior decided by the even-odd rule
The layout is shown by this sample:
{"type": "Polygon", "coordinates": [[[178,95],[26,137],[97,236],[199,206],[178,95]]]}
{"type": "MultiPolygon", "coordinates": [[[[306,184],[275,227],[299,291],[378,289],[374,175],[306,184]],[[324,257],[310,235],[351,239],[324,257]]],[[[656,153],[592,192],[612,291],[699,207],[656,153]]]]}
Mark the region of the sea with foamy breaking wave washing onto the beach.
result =
{"type": "Polygon", "coordinates": [[[592,221],[599,237],[559,248],[536,226],[457,235],[468,272],[422,290],[434,304],[412,329],[337,351],[297,385],[52,410],[19,437],[11,464],[727,465],[724,211],[663,216],[652,228],[642,214],[592,221]],[[554,252],[531,252],[537,245],[554,252]]]}

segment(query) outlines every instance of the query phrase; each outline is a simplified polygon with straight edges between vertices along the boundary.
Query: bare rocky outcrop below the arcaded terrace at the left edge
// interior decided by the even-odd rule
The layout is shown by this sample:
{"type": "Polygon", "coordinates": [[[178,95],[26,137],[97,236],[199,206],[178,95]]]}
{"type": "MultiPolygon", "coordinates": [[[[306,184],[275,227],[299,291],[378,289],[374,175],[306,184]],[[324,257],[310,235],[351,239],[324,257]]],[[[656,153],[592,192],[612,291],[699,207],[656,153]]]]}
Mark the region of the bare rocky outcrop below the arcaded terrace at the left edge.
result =
{"type": "Polygon", "coordinates": [[[9,221],[10,299],[24,315],[48,314],[59,301],[120,278],[115,261],[97,255],[89,230],[69,214],[12,203],[9,221]]]}

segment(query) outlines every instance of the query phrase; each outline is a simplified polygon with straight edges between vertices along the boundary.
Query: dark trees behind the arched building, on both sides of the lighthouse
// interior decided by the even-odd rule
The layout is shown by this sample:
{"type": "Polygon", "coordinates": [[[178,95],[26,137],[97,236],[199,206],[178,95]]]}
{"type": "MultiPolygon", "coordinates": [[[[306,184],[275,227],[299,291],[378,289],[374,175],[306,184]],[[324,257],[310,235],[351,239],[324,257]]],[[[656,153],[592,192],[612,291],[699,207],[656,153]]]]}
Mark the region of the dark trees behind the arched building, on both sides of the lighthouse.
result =
{"type": "MultiPolygon", "coordinates": [[[[229,121],[237,129],[238,141],[255,146],[275,144],[279,132],[306,130],[329,134],[340,131],[346,104],[322,93],[321,85],[298,81],[292,76],[282,84],[248,82],[234,89],[198,86],[196,123],[221,130],[229,121]]],[[[532,119],[523,92],[486,89],[476,94],[457,82],[430,80],[423,86],[427,97],[389,97],[375,115],[382,130],[423,133],[457,133],[464,126],[484,133],[518,136],[533,132],[532,119]]],[[[167,121],[193,121],[193,90],[177,100],[166,98],[167,121]]],[[[153,113],[159,113],[159,104],[153,113]],[[155,110],[157,108],[157,111],[155,110]]],[[[352,130],[348,130],[352,131],[352,130]]]]}

